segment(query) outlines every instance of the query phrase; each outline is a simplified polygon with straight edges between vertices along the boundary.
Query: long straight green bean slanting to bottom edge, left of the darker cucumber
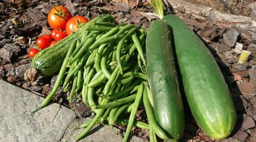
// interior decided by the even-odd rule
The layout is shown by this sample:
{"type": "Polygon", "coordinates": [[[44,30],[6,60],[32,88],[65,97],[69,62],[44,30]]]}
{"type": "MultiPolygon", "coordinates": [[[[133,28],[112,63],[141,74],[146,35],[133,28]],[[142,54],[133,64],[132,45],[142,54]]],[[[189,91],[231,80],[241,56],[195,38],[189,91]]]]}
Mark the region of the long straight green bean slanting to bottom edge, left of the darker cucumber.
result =
{"type": "Polygon", "coordinates": [[[140,103],[140,100],[141,100],[142,95],[143,95],[143,90],[144,90],[144,85],[143,85],[143,83],[141,83],[140,86],[139,86],[139,89],[137,91],[137,96],[136,96],[135,101],[134,101],[134,103],[135,103],[134,107],[133,107],[133,109],[131,111],[131,114],[130,114],[130,117],[129,117],[129,121],[128,121],[128,124],[127,124],[127,128],[126,128],[126,132],[125,132],[123,142],[128,141],[130,131],[131,131],[132,125],[134,123],[134,119],[135,119],[135,116],[136,116],[136,113],[137,113],[137,110],[138,110],[138,107],[139,107],[139,103],[140,103]]]}

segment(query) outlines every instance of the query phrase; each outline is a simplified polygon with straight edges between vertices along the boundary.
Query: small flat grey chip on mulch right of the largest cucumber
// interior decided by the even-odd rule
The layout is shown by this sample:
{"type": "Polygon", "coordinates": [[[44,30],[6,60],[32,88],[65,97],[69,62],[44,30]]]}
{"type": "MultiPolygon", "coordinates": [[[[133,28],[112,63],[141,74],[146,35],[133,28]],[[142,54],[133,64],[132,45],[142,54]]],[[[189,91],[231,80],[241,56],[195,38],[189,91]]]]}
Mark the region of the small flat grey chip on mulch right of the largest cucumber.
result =
{"type": "Polygon", "coordinates": [[[228,30],[223,34],[223,41],[229,47],[234,47],[238,39],[238,35],[239,33],[235,29],[228,30]]]}

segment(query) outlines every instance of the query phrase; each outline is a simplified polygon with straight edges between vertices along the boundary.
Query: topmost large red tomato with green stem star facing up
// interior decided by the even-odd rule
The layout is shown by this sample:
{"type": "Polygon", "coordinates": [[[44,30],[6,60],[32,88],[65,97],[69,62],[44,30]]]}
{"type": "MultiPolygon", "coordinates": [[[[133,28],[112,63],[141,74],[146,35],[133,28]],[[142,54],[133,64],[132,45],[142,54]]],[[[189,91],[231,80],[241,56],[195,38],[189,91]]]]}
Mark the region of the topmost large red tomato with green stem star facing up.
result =
{"type": "Polygon", "coordinates": [[[67,21],[71,18],[71,13],[63,6],[52,8],[47,16],[47,21],[52,28],[65,29],[67,21]]]}

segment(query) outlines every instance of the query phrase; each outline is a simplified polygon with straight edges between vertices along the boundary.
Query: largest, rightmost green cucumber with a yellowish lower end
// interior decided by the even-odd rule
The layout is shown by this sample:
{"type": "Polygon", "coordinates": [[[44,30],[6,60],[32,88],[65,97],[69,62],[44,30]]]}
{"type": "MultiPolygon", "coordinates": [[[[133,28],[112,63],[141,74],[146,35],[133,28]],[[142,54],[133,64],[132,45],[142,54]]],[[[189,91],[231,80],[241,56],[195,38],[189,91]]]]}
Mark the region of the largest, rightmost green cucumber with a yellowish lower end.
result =
{"type": "Polygon", "coordinates": [[[192,115],[216,140],[233,130],[237,115],[217,62],[200,38],[175,15],[163,18],[173,30],[175,52],[192,115]]]}

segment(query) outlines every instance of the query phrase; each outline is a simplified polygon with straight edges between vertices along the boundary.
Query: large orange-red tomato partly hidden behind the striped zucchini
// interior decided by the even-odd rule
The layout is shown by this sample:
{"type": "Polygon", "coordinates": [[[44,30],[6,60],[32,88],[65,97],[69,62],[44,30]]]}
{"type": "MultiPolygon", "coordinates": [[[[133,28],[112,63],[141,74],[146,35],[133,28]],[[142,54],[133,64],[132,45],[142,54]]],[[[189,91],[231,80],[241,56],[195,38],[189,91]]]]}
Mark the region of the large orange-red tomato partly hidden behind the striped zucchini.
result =
{"type": "Polygon", "coordinates": [[[66,24],[66,33],[70,35],[72,32],[77,31],[79,24],[88,23],[88,19],[82,16],[75,16],[68,20],[66,24]]]}

